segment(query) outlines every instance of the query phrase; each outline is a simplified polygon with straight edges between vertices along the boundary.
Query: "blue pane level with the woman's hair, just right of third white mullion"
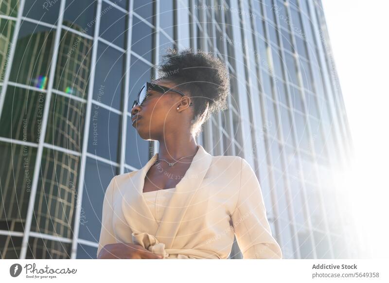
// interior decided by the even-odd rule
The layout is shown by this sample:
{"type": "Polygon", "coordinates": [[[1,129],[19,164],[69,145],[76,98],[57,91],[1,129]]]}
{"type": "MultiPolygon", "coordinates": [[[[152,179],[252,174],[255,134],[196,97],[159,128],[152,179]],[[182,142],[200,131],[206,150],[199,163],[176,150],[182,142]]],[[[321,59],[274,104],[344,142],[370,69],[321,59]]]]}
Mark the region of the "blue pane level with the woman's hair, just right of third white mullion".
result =
{"type": "Polygon", "coordinates": [[[124,84],[124,54],[99,42],[93,99],[121,110],[124,84]]]}

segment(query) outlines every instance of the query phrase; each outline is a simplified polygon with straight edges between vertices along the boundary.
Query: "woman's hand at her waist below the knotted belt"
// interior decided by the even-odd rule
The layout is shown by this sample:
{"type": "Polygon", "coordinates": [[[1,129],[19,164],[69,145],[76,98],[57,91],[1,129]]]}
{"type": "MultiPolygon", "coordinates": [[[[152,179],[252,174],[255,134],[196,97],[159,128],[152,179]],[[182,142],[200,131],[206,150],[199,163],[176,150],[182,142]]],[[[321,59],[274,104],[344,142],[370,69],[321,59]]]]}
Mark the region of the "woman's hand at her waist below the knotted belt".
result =
{"type": "Polygon", "coordinates": [[[132,243],[115,243],[105,245],[97,259],[161,259],[162,257],[151,252],[141,245],[132,243]]]}

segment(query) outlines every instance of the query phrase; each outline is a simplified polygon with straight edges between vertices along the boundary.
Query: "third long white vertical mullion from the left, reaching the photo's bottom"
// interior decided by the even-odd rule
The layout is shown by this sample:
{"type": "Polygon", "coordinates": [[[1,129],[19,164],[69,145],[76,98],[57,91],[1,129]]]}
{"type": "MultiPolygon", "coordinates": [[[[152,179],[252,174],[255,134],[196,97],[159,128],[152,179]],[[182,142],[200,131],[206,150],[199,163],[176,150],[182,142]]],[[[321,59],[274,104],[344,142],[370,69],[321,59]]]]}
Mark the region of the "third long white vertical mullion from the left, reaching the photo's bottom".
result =
{"type": "MultiPolygon", "coordinates": [[[[96,8],[96,22],[95,22],[95,30],[93,37],[93,45],[92,45],[92,59],[90,63],[90,79],[89,79],[89,87],[88,87],[88,99],[87,99],[87,111],[85,114],[85,126],[84,126],[84,140],[82,145],[81,152],[81,166],[80,166],[80,178],[78,181],[77,188],[77,207],[76,207],[76,216],[74,221],[74,233],[73,233],[73,242],[71,246],[71,259],[76,258],[77,253],[77,239],[78,239],[78,231],[80,228],[80,215],[81,215],[81,203],[82,203],[82,195],[84,191],[84,180],[85,180],[85,166],[87,159],[87,150],[88,150],[88,139],[89,139],[89,124],[90,124],[90,112],[92,107],[92,98],[93,98],[93,85],[94,85],[94,74],[96,71],[96,57],[97,57],[97,45],[98,45],[98,37],[99,37],[99,29],[100,29],[100,13],[101,13],[101,1],[97,1],[96,8]]],[[[64,1],[63,1],[64,2],[64,1]]]]}

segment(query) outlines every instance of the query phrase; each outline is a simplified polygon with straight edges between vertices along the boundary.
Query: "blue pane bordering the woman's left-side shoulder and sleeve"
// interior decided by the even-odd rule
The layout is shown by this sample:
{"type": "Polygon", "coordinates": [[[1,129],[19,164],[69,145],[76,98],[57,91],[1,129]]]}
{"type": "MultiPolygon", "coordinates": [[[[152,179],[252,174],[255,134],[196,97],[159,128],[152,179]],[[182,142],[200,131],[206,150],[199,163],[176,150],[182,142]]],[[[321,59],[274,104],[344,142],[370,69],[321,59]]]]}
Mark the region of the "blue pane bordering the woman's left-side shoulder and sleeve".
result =
{"type": "Polygon", "coordinates": [[[104,194],[117,173],[116,167],[87,158],[78,238],[95,243],[99,241],[104,194]]]}

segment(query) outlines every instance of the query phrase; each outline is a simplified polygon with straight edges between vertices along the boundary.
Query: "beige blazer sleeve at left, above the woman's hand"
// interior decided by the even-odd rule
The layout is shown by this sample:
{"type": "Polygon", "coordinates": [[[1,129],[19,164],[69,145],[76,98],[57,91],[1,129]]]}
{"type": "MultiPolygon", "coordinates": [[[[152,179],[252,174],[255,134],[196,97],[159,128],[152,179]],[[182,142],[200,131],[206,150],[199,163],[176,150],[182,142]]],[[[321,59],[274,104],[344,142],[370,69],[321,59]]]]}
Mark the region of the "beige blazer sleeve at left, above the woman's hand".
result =
{"type": "Polygon", "coordinates": [[[96,257],[98,257],[101,249],[106,244],[113,244],[116,243],[115,233],[113,231],[113,225],[112,225],[112,217],[113,217],[113,192],[114,192],[114,185],[116,183],[115,177],[113,177],[106,188],[106,193],[104,195],[104,201],[103,201],[103,212],[102,212],[102,218],[101,218],[101,231],[100,231],[100,239],[99,239],[99,246],[97,248],[97,254],[96,257]]]}

